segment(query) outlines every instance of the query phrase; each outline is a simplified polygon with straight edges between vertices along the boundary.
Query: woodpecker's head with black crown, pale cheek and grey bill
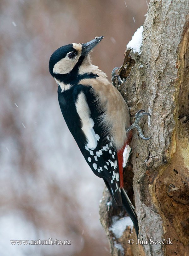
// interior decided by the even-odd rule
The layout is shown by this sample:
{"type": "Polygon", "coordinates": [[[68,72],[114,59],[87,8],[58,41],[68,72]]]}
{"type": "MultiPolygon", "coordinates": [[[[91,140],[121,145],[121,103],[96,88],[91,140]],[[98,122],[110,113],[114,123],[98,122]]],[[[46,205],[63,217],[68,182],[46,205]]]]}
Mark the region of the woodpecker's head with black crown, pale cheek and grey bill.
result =
{"type": "Polygon", "coordinates": [[[58,48],[49,60],[49,71],[54,78],[59,79],[61,75],[82,74],[90,64],[89,53],[104,38],[95,39],[84,44],[68,44],[58,48]]]}

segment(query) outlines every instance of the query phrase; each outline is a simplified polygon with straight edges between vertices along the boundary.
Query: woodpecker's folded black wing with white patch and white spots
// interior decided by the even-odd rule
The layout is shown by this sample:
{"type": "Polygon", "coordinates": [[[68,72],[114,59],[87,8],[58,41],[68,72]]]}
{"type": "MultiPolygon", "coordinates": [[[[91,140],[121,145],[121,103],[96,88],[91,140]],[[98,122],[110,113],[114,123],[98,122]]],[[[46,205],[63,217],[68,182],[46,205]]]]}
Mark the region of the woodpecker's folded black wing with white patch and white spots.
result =
{"type": "Polygon", "coordinates": [[[103,113],[98,109],[91,87],[77,85],[61,92],[59,86],[58,99],[66,124],[90,168],[104,179],[113,199],[122,205],[117,151],[113,138],[99,121],[103,113]]]}

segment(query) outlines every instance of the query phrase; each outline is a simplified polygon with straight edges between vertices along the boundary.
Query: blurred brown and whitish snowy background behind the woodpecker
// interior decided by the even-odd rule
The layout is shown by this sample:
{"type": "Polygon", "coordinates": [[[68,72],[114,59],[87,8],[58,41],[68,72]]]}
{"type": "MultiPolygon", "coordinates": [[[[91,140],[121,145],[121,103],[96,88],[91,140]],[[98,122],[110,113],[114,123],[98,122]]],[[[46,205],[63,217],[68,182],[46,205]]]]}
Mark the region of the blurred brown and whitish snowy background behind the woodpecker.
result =
{"type": "Polygon", "coordinates": [[[98,215],[104,183],[66,127],[48,63],[60,46],[104,35],[92,62],[111,79],[148,1],[0,0],[1,256],[110,255],[98,215]],[[72,245],[10,242],[49,238],[72,245]]]}

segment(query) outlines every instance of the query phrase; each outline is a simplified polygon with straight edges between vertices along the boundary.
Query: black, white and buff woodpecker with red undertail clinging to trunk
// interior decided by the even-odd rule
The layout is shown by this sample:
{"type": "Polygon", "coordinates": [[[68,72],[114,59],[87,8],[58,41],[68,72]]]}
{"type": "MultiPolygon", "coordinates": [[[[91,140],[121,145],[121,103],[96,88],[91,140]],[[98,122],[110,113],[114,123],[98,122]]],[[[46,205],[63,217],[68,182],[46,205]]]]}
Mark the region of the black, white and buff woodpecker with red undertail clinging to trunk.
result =
{"type": "MultiPolygon", "coordinates": [[[[106,74],[91,64],[89,53],[104,36],[69,44],[50,57],[49,71],[58,84],[58,100],[66,124],[92,171],[103,178],[113,200],[129,214],[138,235],[135,208],[123,189],[123,150],[144,110],[130,126],[129,108],[106,74]]],[[[113,72],[114,74],[114,72],[113,72]]]]}

